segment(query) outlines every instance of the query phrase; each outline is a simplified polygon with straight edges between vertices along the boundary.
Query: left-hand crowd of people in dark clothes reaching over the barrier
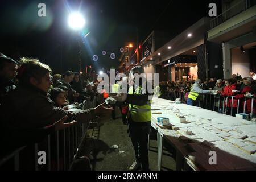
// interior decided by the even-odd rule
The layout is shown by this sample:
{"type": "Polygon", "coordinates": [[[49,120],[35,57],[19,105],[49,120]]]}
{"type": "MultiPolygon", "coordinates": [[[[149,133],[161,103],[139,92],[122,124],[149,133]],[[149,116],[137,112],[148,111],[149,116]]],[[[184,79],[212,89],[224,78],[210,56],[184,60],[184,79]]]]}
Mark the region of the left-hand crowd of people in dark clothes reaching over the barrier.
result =
{"type": "Polygon", "coordinates": [[[68,111],[65,106],[69,104],[94,99],[96,85],[89,83],[82,89],[79,74],[67,71],[52,77],[51,73],[51,68],[39,60],[23,57],[15,61],[1,53],[1,156],[113,110],[99,103],[92,109],[68,111]]]}

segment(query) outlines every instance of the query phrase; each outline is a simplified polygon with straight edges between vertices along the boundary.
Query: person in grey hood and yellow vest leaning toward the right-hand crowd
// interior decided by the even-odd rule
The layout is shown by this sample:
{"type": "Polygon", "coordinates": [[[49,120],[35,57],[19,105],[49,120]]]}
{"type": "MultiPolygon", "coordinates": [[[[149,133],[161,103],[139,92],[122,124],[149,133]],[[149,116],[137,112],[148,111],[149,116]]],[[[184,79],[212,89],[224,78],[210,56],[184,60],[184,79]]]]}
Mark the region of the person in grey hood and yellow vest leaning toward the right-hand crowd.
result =
{"type": "Polygon", "coordinates": [[[205,93],[211,93],[212,90],[203,90],[200,88],[201,80],[197,79],[195,84],[193,84],[189,94],[188,94],[188,99],[187,99],[187,105],[192,105],[192,106],[198,106],[200,97],[199,94],[205,94],[205,93]]]}

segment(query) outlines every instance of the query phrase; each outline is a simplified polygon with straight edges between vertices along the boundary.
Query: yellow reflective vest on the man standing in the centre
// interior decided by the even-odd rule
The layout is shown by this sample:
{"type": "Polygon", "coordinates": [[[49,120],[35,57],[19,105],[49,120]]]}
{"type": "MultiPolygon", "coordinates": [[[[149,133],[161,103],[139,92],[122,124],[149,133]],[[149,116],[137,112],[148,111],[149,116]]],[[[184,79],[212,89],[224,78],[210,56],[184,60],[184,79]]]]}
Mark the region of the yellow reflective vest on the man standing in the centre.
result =
{"type": "MultiPolygon", "coordinates": [[[[141,94],[141,86],[138,86],[138,88],[133,93],[133,86],[129,88],[128,94],[141,94]]],[[[129,113],[127,114],[127,118],[131,118],[134,122],[150,122],[151,121],[151,103],[152,100],[148,101],[146,105],[143,106],[137,106],[129,104],[129,113]]]]}

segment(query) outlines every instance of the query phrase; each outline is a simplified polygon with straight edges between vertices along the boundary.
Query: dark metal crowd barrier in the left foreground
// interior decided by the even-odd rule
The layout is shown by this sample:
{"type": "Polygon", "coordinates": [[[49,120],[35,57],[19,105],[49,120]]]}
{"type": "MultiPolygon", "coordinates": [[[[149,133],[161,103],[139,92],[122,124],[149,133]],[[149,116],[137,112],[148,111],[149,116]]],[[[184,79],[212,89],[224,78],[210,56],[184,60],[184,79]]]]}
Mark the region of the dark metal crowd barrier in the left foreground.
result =
{"type": "MultiPolygon", "coordinates": [[[[77,152],[79,152],[82,140],[86,137],[85,130],[85,123],[80,123],[68,129],[56,131],[55,134],[48,135],[47,139],[43,142],[35,143],[33,147],[34,157],[31,156],[31,158],[26,159],[30,161],[34,160],[34,167],[26,167],[34,169],[35,171],[69,170],[73,159],[76,158],[77,152]],[[39,164],[39,151],[45,152],[46,164],[39,164]],[[60,151],[62,151],[62,154],[60,154],[60,151]],[[53,168],[52,166],[53,162],[56,163],[55,168],[53,168]]],[[[0,159],[0,168],[5,169],[3,168],[3,165],[5,165],[7,162],[11,162],[11,160],[14,160],[13,169],[15,171],[19,171],[20,169],[22,169],[20,168],[20,165],[22,165],[20,163],[20,152],[23,152],[24,150],[26,150],[26,148],[28,148],[28,146],[20,147],[17,150],[11,152],[9,155],[6,155],[2,159],[0,159]]],[[[11,165],[9,165],[9,167],[10,166],[11,165]]]]}

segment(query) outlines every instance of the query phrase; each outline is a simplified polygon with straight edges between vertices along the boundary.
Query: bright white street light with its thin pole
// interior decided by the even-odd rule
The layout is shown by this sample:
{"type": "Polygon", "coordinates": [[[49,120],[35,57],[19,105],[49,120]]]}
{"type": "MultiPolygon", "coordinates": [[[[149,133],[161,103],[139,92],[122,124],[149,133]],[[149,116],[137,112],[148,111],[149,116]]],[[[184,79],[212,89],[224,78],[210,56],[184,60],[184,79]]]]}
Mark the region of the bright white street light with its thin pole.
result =
{"type": "MultiPolygon", "coordinates": [[[[68,17],[68,24],[73,30],[84,28],[85,19],[79,12],[73,12],[68,17]]],[[[79,73],[81,73],[81,40],[79,39],[79,73]]]]}

